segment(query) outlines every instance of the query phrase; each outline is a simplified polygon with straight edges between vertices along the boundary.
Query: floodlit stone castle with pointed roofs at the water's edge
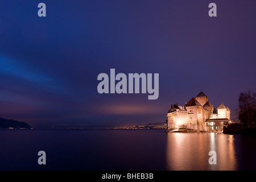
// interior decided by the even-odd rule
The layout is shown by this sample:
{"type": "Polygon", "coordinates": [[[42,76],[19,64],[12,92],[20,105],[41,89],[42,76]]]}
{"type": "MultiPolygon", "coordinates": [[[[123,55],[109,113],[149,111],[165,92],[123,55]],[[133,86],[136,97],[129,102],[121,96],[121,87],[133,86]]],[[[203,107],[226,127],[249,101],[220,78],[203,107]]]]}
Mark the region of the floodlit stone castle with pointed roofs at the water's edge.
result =
{"type": "Polygon", "coordinates": [[[214,109],[208,97],[200,92],[185,105],[174,104],[167,113],[167,131],[209,131],[222,132],[230,122],[230,109],[221,104],[214,109]]]}

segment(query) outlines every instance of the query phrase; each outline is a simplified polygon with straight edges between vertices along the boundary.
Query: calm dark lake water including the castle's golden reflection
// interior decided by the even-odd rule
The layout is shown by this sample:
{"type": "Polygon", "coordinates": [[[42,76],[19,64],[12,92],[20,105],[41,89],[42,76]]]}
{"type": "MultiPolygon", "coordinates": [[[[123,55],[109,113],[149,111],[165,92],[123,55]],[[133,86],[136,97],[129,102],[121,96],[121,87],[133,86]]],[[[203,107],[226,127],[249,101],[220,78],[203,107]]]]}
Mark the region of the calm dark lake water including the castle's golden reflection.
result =
{"type": "Polygon", "coordinates": [[[163,130],[0,130],[1,170],[255,170],[256,138],[163,130]],[[38,151],[46,165],[38,164],[38,151]],[[217,164],[208,163],[209,151],[217,164]]]}

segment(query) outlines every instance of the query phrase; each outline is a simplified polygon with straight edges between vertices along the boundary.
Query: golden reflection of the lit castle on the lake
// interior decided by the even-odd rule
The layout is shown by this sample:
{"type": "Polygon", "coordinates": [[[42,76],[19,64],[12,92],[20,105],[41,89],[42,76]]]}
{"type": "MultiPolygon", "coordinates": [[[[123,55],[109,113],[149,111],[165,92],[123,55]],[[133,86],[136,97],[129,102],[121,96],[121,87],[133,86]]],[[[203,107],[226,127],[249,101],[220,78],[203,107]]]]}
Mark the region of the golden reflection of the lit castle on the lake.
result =
{"type": "Polygon", "coordinates": [[[168,170],[236,170],[233,135],[167,133],[166,162],[168,170]],[[217,164],[209,164],[209,151],[216,151],[217,164]]]}

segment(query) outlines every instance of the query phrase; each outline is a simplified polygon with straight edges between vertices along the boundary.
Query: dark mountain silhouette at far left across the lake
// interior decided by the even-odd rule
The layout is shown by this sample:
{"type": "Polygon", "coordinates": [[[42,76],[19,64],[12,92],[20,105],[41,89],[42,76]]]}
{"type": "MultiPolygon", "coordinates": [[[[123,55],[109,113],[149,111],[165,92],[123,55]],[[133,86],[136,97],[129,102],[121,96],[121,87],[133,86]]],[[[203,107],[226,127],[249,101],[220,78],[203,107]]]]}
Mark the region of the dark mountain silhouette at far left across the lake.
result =
{"type": "Polygon", "coordinates": [[[0,118],[0,129],[32,129],[26,122],[0,118]]]}

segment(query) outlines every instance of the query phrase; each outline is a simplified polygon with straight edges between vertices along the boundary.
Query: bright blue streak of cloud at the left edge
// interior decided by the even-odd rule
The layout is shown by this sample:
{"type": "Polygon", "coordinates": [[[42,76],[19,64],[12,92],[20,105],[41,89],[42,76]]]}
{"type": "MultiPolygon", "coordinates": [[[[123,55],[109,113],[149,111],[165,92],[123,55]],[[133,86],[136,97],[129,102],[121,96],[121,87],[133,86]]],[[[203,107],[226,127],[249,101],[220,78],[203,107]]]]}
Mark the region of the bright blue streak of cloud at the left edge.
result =
{"type": "Polygon", "coordinates": [[[43,90],[55,94],[70,93],[70,88],[64,82],[52,77],[49,73],[40,71],[40,68],[24,64],[24,61],[13,57],[0,55],[0,74],[8,78],[8,82],[5,80],[1,80],[1,82],[7,84],[9,88],[22,85],[32,91],[43,90]]]}

